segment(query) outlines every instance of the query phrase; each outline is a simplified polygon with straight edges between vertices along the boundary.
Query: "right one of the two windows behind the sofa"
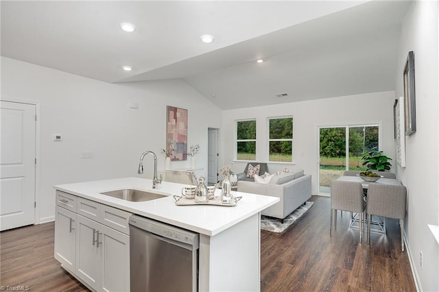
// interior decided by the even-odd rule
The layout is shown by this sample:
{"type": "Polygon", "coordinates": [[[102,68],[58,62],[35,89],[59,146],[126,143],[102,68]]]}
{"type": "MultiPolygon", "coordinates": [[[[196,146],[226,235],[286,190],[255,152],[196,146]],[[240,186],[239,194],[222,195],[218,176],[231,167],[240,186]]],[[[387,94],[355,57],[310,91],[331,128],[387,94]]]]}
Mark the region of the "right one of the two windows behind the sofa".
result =
{"type": "Polygon", "coordinates": [[[293,117],[268,119],[269,161],[293,161],[293,117]]]}

